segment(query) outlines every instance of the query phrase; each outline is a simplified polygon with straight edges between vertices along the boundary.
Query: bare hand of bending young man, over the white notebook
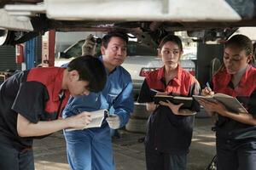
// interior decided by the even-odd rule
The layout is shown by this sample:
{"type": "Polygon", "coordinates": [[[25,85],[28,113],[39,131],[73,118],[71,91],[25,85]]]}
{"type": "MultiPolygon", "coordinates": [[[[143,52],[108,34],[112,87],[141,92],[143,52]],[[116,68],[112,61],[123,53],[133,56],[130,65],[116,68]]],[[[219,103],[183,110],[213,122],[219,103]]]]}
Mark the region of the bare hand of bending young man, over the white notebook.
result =
{"type": "Polygon", "coordinates": [[[90,113],[87,111],[83,111],[79,115],[67,118],[67,123],[69,124],[69,127],[72,128],[83,128],[88,125],[90,121],[90,113]]]}

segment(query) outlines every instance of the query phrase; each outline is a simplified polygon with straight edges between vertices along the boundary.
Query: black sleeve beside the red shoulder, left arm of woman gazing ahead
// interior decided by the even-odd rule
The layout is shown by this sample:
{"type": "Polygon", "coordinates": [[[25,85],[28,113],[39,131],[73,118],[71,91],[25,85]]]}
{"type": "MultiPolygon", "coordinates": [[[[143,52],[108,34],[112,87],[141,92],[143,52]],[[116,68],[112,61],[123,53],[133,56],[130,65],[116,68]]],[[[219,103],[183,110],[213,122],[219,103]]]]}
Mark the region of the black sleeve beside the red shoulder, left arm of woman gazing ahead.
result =
{"type": "Polygon", "coordinates": [[[148,103],[152,101],[154,101],[154,93],[151,93],[150,88],[148,87],[147,80],[144,79],[143,86],[141,88],[137,102],[148,103]]]}

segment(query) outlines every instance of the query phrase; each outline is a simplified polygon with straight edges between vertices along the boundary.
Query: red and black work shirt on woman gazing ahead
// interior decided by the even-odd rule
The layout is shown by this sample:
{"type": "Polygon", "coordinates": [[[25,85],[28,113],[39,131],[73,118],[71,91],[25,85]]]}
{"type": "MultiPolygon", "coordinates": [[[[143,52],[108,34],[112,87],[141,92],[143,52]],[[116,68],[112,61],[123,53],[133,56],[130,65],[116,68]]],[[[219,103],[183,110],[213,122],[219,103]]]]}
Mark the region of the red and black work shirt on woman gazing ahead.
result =
{"type": "MultiPolygon", "coordinates": [[[[145,78],[138,102],[154,101],[150,88],[167,92],[171,95],[188,96],[198,94],[200,85],[189,72],[177,66],[177,77],[170,82],[165,81],[165,67],[152,71],[145,78]]],[[[192,111],[199,111],[200,105],[194,101],[192,111]]],[[[192,139],[194,116],[177,116],[169,107],[158,105],[149,117],[146,148],[166,153],[187,152],[192,139]]]]}

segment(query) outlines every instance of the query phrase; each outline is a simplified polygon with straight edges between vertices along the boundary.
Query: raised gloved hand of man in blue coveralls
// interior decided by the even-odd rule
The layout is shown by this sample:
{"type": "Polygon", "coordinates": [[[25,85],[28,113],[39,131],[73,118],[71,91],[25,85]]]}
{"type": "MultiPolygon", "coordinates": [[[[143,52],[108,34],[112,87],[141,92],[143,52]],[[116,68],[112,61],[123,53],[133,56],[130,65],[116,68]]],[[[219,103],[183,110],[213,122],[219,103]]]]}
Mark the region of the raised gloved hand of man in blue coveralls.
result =
{"type": "Polygon", "coordinates": [[[93,39],[92,34],[86,37],[84,44],[82,46],[82,55],[92,55],[92,56],[95,55],[96,42],[94,42],[92,39],[93,39]]]}

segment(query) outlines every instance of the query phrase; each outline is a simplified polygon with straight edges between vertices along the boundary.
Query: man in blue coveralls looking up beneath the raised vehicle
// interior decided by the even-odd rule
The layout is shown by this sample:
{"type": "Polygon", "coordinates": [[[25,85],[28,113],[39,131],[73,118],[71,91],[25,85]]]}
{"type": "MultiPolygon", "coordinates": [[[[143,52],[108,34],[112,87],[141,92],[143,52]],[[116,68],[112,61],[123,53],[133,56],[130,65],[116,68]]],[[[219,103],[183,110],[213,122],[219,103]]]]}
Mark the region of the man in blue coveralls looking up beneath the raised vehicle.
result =
{"type": "Polygon", "coordinates": [[[120,66],[127,55],[128,37],[122,32],[109,32],[102,38],[101,52],[108,80],[101,93],[86,97],[70,98],[62,113],[63,118],[82,111],[108,109],[112,116],[103,121],[102,127],[65,131],[67,160],[71,169],[113,170],[113,149],[110,127],[125,126],[133,111],[131,75],[120,66]]]}

